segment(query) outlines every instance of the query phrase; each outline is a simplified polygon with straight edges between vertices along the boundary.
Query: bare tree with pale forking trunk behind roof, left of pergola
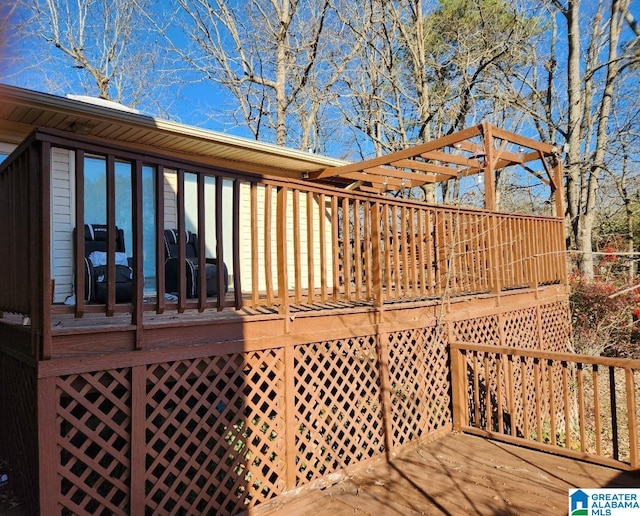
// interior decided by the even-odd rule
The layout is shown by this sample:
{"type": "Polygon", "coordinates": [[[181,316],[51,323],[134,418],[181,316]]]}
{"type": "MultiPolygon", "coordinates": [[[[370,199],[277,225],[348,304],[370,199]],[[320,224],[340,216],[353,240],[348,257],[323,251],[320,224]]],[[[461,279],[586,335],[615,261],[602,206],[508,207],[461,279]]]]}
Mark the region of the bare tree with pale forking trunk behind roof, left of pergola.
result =
{"type": "Polygon", "coordinates": [[[174,50],[231,94],[239,123],[256,139],[316,148],[319,116],[353,51],[336,45],[329,0],[179,4],[191,44],[174,41],[174,50]]]}

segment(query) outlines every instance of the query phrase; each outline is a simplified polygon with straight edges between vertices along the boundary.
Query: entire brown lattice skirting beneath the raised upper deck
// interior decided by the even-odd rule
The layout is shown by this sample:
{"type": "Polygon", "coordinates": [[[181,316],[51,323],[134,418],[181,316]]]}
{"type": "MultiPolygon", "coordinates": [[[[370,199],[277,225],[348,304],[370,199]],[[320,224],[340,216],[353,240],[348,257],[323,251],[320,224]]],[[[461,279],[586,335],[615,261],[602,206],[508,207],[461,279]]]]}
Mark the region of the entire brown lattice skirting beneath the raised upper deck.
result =
{"type": "MultiPolygon", "coordinates": [[[[41,396],[55,405],[54,507],[123,515],[245,510],[450,427],[448,338],[537,339],[557,349],[566,326],[544,321],[562,316],[558,303],[448,324],[432,318],[391,333],[54,378],[50,397],[41,396]]],[[[29,374],[6,357],[0,364],[14,370],[19,404],[35,403],[29,374]]],[[[513,381],[532,381],[518,374],[513,381]]],[[[497,395],[497,386],[488,389],[497,395]]],[[[4,400],[2,410],[17,409],[4,400]]],[[[523,410],[514,407],[517,417],[523,410]]],[[[20,416],[22,426],[35,428],[28,417],[20,416]]]]}

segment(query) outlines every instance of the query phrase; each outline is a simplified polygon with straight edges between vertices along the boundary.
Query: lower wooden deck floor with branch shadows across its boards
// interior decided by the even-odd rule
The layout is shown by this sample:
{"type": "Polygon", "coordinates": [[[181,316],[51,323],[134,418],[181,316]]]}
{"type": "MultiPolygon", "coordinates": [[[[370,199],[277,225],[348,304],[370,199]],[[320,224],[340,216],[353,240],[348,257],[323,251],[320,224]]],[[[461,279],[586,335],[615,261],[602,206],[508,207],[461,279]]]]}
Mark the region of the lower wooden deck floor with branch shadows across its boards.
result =
{"type": "Polygon", "coordinates": [[[449,434],[325,489],[286,494],[252,514],[567,514],[568,490],[640,487],[620,472],[481,437],[449,434]]]}

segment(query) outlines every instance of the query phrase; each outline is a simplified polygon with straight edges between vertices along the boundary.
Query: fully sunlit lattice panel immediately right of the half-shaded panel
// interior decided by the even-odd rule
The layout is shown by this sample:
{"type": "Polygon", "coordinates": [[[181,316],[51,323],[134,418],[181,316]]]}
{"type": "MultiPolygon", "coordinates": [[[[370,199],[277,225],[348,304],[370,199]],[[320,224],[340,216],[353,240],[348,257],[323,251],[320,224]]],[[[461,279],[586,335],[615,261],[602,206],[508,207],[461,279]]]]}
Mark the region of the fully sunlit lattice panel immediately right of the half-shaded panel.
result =
{"type": "Polygon", "coordinates": [[[296,347],[297,485],[384,451],[375,337],[296,347]]]}

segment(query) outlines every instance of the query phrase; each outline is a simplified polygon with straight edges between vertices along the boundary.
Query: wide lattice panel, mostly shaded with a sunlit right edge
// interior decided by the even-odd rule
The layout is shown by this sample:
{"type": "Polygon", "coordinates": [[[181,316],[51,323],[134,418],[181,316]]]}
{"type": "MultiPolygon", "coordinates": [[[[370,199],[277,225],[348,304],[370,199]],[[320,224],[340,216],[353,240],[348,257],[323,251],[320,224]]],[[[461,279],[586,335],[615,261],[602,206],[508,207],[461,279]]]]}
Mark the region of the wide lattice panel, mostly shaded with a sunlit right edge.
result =
{"type": "Polygon", "coordinates": [[[284,489],[280,350],[148,368],[147,507],[234,513],[284,489]]]}

